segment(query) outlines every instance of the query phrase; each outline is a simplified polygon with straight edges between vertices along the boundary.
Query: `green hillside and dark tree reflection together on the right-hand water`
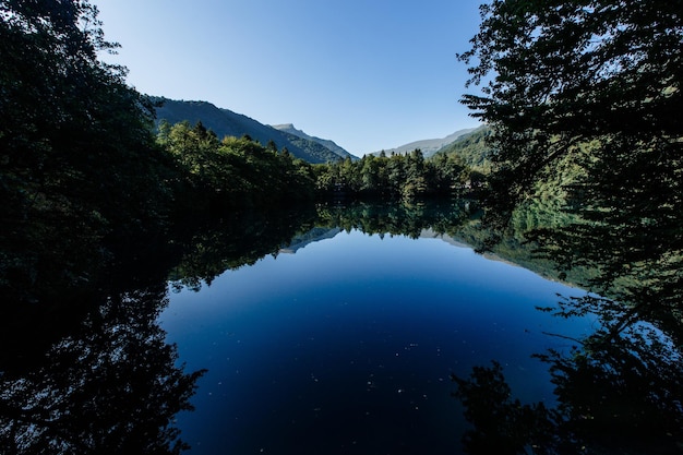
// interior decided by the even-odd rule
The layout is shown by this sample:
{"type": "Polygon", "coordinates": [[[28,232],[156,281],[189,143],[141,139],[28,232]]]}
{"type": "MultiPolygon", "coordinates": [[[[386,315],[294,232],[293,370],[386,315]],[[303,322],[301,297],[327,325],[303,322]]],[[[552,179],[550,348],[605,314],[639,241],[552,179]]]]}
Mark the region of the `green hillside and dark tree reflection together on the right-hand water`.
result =
{"type": "MultiPolygon", "coordinates": [[[[604,213],[560,215],[564,223],[525,226],[514,235],[526,239],[534,256],[552,264],[558,276],[573,274],[575,285],[595,292],[559,296],[556,307],[539,311],[565,319],[591,315],[595,330],[582,339],[547,334],[565,338],[571,347],[535,355],[552,376],[558,402],[552,408],[514,398],[495,360],[475,368],[469,378],[453,376],[454,396],[472,424],[463,436],[464,450],[683,453],[683,276],[682,258],[673,248],[675,229],[666,232],[667,241],[662,231],[645,235],[647,228],[624,232],[624,225],[604,213]],[[584,273],[576,274],[579,268],[584,273]]],[[[499,241],[504,237],[488,244],[499,241]]]]}

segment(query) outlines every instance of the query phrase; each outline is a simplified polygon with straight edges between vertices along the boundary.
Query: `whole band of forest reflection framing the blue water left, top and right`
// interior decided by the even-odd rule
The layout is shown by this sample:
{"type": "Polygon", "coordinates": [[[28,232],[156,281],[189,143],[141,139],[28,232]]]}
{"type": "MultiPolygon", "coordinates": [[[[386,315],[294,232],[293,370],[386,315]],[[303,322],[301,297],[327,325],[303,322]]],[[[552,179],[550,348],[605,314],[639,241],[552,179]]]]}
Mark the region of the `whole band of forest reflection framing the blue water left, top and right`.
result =
{"type": "Polygon", "coordinates": [[[482,227],[480,218],[481,211],[467,201],[356,203],[235,214],[180,229],[154,266],[103,274],[109,276],[106,283],[65,297],[73,301],[41,307],[50,314],[50,304],[55,312],[72,304],[70,324],[46,331],[49,321],[31,323],[36,310],[2,324],[2,344],[15,348],[0,357],[1,452],[181,452],[187,446],[173,420],[192,408],[203,371],[178,364],[177,349],[158,325],[168,283],[171,290],[199,290],[225,271],[277,255],[292,243],[352,229],[411,238],[431,229],[595,291],[539,309],[596,321],[585,338],[567,338],[566,350],[536,354],[548,364],[556,405],[515,399],[495,359],[469,378],[453,378],[454,396],[472,424],[463,436],[467,453],[683,452],[680,258],[624,263],[620,249],[628,244],[611,236],[608,225],[577,227],[538,205],[517,214],[505,231],[482,227]],[[12,337],[8,324],[17,321],[25,322],[12,337]]]}

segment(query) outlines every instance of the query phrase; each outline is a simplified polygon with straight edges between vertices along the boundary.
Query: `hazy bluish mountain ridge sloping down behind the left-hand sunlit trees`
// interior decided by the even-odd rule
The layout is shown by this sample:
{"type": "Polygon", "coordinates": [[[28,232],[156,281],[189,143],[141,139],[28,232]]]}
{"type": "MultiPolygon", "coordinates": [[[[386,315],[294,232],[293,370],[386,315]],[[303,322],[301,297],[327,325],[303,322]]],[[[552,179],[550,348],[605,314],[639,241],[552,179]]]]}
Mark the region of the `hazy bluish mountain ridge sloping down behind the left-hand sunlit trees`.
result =
{"type": "Polygon", "coordinates": [[[202,124],[213,130],[218,137],[241,137],[247,134],[263,145],[273,141],[278,149],[287,147],[293,156],[309,163],[327,163],[339,159],[339,155],[316,141],[276,130],[252,118],[218,108],[207,101],[179,101],[168,98],[153,98],[153,100],[158,104],[156,108],[157,124],[161,120],[166,120],[170,124],[183,120],[194,124],[201,120],[202,124]]]}

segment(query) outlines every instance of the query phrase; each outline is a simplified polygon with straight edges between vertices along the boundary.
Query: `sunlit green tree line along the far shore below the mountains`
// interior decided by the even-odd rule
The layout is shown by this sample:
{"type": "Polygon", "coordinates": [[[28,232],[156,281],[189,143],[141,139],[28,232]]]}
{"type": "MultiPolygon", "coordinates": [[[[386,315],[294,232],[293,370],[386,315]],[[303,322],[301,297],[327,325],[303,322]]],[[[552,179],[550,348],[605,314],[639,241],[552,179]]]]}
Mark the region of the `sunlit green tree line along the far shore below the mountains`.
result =
{"type": "Polygon", "coordinates": [[[453,196],[478,187],[483,176],[472,171],[456,154],[424,158],[410,154],[367,155],[335,163],[310,164],[249,136],[219,140],[201,121],[173,125],[161,121],[157,144],[175,160],[176,202],[180,206],[244,207],[301,200],[348,199],[414,200],[453,196]],[[197,206],[196,201],[200,200],[197,206]]]}

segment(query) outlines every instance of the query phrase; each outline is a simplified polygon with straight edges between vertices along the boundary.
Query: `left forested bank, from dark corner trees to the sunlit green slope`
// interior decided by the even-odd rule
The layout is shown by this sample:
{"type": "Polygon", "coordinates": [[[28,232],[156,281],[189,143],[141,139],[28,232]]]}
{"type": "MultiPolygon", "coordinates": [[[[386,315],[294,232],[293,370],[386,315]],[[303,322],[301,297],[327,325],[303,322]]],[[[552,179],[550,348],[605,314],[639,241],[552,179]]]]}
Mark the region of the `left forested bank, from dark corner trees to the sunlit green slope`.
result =
{"type": "Polygon", "coordinates": [[[88,2],[0,3],[0,301],[8,304],[49,302],[57,290],[69,300],[120,254],[137,254],[190,215],[281,205],[310,199],[314,188],[289,142],[278,149],[221,141],[189,123],[157,136],[149,99],[127,85],[125,69],[99,60],[117,46],[98,26],[88,2]]]}

